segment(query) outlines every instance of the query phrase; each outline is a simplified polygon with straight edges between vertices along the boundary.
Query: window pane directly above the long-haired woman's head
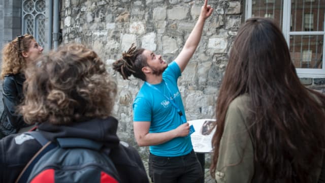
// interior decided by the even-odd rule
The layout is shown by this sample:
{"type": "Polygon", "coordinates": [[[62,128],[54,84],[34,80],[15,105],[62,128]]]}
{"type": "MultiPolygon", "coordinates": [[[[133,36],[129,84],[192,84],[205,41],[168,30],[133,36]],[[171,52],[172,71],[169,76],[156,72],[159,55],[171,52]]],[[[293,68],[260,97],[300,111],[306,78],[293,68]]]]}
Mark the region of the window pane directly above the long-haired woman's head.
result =
{"type": "Polygon", "coordinates": [[[252,17],[269,17],[282,27],[283,0],[252,0],[252,17]]]}

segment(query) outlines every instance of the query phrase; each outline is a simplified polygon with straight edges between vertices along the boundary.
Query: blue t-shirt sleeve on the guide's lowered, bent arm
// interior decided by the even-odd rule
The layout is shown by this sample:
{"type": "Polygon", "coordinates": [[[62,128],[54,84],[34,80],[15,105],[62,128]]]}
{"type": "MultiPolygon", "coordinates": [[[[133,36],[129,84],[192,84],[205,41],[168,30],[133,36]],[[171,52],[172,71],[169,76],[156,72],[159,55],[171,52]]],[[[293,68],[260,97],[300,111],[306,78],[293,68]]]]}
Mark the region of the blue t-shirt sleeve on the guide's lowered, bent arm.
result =
{"type": "Polygon", "coordinates": [[[147,99],[138,97],[133,103],[133,121],[151,121],[151,107],[147,99]]]}

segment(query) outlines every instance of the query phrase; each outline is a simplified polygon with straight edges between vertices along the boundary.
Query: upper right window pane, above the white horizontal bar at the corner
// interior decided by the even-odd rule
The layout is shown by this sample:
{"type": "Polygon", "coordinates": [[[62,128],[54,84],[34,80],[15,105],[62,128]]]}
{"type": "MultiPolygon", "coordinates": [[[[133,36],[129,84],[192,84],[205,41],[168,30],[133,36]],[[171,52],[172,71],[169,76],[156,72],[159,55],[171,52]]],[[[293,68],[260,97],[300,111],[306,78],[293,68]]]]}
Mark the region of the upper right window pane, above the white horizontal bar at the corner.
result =
{"type": "Polygon", "coordinates": [[[291,32],[324,31],[325,0],[292,0],[291,32]]]}

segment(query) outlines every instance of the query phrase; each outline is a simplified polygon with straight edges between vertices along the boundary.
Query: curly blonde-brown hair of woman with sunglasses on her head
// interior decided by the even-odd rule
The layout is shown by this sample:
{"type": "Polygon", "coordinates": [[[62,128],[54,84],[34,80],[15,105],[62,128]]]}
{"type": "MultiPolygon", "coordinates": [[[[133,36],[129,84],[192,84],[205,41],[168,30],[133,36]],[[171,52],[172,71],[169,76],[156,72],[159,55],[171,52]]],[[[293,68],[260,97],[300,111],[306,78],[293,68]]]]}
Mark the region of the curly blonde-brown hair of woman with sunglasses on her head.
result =
{"type": "Polygon", "coordinates": [[[34,40],[33,36],[25,34],[24,37],[17,37],[4,46],[2,50],[1,79],[4,79],[8,74],[18,74],[25,69],[26,62],[21,52],[27,52],[29,50],[29,45],[32,40],[34,40]],[[20,41],[18,41],[18,39],[20,39],[20,41]],[[20,43],[20,45],[18,43],[20,43]]]}

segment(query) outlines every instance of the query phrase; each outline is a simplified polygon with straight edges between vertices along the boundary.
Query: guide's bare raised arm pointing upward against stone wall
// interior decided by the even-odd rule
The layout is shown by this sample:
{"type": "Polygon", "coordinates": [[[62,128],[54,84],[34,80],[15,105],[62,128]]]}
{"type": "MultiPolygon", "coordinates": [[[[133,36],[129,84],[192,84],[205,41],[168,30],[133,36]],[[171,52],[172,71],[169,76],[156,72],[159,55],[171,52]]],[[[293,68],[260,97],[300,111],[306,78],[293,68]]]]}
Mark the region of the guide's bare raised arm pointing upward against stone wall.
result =
{"type": "Polygon", "coordinates": [[[211,8],[211,6],[207,4],[208,0],[205,0],[204,5],[201,8],[201,13],[196,25],[194,26],[191,34],[188,36],[182,51],[175,59],[175,62],[179,66],[181,72],[184,71],[189,59],[192,57],[194,51],[199,45],[205,20],[213,12],[213,8],[211,8]]]}

